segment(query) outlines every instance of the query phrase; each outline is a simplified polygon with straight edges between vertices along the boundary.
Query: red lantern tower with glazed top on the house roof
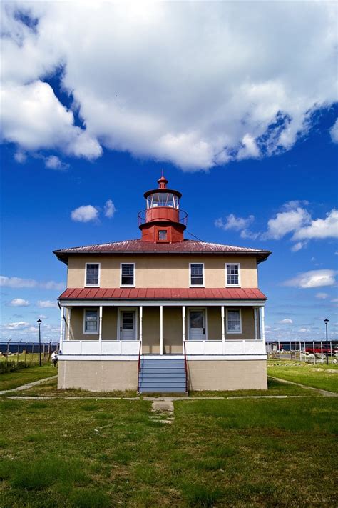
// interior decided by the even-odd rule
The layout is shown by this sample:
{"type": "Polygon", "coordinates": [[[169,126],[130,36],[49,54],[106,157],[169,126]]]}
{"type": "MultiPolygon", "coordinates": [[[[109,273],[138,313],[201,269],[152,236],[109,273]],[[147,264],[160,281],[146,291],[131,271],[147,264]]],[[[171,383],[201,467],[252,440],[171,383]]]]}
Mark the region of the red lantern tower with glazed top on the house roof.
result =
{"type": "Polygon", "coordinates": [[[167,189],[167,184],[168,180],[162,175],[158,179],[158,189],[144,194],[147,208],[138,214],[143,241],[155,244],[183,241],[188,214],[180,210],[182,194],[167,189]]]}

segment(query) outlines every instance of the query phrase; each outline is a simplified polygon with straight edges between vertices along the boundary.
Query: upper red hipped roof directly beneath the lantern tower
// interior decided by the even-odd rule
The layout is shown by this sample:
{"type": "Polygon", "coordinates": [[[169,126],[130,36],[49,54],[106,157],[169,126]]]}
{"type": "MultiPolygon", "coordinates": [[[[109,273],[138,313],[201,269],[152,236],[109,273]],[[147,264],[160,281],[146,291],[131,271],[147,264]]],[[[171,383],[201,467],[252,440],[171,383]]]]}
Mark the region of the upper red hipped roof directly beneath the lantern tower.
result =
{"type": "Polygon", "coordinates": [[[270,251],[261,249],[250,249],[248,247],[240,247],[234,245],[212,244],[208,241],[183,240],[173,244],[159,243],[155,244],[150,241],[143,240],[126,240],[115,241],[110,244],[86,245],[79,247],[71,247],[70,249],[58,249],[54,254],[63,262],[67,262],[68,256],[71,254],[198,254],[198,253],[214,253],[214,254],[255,254],[258,261],[263,261],[271,254],[270,251]]]}

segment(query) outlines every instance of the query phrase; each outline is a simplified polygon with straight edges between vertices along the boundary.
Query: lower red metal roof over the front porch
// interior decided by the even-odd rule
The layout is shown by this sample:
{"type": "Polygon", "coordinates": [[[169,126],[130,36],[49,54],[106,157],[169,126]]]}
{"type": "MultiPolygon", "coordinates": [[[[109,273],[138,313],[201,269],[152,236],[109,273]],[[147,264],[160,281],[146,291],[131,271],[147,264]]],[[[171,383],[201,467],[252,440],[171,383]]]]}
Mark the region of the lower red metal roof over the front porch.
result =
{"type": "Polygon", "coordinates": [[[68,288],[60,300],[266,300],[258,288],[219,287],[219,288],[68,288]]]}

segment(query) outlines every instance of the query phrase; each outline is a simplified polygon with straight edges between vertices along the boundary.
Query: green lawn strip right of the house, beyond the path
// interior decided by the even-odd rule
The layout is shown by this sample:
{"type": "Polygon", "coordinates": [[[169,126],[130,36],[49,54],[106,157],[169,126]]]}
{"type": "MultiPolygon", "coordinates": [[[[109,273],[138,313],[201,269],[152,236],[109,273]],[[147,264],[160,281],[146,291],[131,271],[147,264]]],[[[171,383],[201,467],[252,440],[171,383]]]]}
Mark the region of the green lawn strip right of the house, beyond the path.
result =
{"type": "Polygon", "coordinates": [[[309,387],[329,390],[338,393],[337,364],[297,364],[296,362],[268,362],[267,374],[286,379],[309,387]]]}

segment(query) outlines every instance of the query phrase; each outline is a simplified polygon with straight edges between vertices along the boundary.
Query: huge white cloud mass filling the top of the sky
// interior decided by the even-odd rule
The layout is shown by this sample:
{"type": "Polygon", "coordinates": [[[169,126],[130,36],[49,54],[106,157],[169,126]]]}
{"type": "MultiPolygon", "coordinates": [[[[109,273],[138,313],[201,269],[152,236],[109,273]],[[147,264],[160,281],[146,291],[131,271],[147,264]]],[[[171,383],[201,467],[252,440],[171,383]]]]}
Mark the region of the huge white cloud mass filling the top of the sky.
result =
{"type": "Polygon", "coordinates": [[[4,139],[88,159],[105,146],[187,170],[290,149],[337,100],[336,12],[252,6],[4,1],[4,139]],[[43,81],[60,69],[81,126],[43,81]]]}

